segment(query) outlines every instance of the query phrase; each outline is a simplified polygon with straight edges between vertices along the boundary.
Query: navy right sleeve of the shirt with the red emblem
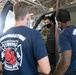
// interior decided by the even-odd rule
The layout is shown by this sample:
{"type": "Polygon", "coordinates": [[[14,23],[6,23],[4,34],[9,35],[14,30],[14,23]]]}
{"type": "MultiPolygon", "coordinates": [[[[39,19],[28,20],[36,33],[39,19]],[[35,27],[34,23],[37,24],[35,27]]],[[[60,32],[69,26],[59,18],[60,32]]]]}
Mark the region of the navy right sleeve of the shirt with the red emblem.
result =
{"type": "Polygon", "coordinates": [[[39,32],[36,33],[36,39],[34,39],[34,56],[37,61],[48,56],[44,41],[39,32]]]}

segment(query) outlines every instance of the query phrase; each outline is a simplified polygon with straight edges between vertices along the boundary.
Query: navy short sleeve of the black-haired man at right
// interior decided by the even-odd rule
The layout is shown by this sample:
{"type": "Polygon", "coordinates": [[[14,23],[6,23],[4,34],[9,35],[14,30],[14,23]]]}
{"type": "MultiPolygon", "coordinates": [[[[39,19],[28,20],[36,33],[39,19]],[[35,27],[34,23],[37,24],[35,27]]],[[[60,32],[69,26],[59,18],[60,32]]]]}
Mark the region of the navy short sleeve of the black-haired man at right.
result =
{"type": "Polygon", "coordinates": [[[68,32],[63,32],[58,37],[59,52],[66,50],[72,50],[71,48],[71,36],[68,32]]]}

